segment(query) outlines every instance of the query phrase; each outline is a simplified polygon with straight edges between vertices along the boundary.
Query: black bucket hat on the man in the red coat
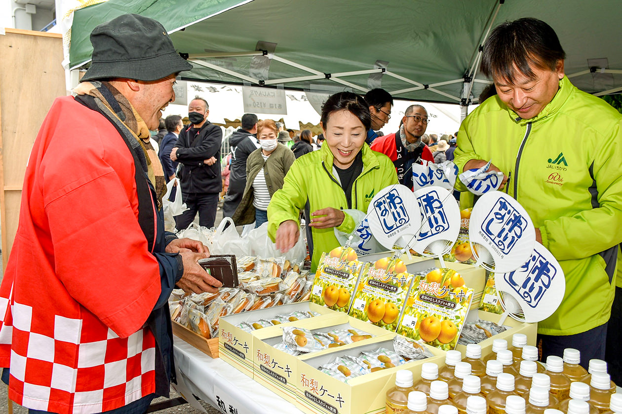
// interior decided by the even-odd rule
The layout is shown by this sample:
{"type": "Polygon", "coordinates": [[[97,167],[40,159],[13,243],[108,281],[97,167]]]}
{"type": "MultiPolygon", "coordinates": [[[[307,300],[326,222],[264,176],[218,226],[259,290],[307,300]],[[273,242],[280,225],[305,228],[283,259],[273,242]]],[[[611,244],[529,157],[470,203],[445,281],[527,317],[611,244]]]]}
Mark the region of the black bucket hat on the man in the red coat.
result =
{"type": "Polygon", "coordinates": [[[177,52],[164,26],[139,14],[124,14],[91,32],[91,66],[80,81],[126,78],[157,81],[191,70],[177,52]]]}

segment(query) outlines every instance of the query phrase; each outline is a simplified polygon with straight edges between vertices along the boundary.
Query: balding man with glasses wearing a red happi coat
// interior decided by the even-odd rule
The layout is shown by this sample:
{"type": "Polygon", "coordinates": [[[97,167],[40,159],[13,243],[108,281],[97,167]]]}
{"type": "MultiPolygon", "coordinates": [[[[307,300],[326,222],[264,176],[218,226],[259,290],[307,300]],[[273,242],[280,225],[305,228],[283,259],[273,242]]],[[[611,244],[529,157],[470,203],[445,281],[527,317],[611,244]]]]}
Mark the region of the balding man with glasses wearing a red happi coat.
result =
{"type": "Polygon", "coordinates": [[[399,183],[410,189],[412,189],[412,163],[422,164],[422,160],[434,163],[432,151],[421,140],[427,123],[427,110],[420,105],[411,105],[404,112],[398,132],[379,137],[371,144],[372,150],[391,158],[399,183]]]}

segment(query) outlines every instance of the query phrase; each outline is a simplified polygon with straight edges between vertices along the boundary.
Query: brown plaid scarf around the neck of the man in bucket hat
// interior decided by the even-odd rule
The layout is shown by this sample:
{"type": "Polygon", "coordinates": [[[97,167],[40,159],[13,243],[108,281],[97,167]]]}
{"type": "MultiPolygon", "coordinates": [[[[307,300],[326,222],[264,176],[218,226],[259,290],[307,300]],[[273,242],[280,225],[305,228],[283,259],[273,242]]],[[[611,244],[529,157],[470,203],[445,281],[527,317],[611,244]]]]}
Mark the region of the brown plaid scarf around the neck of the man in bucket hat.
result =
{"type": "Polygon", "coordinates": [[[142,170],[156,189],[157,208],[161,209],[162,197],[166,194],[164,170],[156,150],[149,142],[151,133],[141,115],[136,112],[128,99],[108,82],[83,82],[73,89],[73,92],[95,98],[98,108],[113,120],[116,127],[125,132],[126,137],[134,137],[133,140],[129,140],[130,145],[137,154],[143,155],[138,159],[141,161],[142,170]]]}

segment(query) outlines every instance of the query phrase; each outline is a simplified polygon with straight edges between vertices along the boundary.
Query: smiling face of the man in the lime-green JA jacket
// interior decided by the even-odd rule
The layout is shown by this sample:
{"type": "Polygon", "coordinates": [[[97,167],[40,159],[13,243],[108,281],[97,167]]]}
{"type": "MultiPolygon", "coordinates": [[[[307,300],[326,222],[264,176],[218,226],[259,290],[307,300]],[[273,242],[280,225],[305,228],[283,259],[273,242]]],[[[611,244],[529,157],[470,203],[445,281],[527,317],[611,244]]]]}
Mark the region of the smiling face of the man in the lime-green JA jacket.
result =
{"type": "Polygon", "coordinates": [[[494,77],[499,99],[522,119],[531,119],[553,100],[559,80],[564,78],[564,61],[557,61],[555,70],[531,67],[534,78],[519,74],[514,83],[494,77]]]}

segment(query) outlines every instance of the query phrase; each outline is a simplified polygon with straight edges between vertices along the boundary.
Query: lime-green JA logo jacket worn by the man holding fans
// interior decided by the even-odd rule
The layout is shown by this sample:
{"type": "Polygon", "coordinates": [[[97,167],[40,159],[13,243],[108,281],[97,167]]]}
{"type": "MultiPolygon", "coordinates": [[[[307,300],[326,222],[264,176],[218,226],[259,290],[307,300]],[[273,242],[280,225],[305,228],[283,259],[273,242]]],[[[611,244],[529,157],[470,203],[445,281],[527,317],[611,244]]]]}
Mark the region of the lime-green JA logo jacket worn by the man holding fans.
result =
{"type": "Polygon", "coordinates": [[[498,96],[487,99],[462,122],[457,144],[460,172],[475,158],[509,176],[504,191],[527,210],[564,269],[564,300],[538,332],[573,335],[607,322],[622,241],[622,115],[564,77],[529,120],[498,96]]]}

